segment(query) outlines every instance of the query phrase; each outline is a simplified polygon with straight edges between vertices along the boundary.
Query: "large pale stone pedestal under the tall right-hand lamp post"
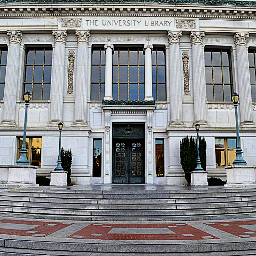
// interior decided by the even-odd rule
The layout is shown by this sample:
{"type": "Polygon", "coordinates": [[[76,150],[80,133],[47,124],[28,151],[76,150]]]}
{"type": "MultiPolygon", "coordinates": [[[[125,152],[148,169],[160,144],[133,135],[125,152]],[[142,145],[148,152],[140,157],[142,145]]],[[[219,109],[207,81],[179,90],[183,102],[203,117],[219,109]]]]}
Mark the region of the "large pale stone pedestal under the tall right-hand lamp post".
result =
{"type": "Polygon", "coordinates": [[[255,188],[256,169],[255,166],[226,166],[227,184],[230,188],[255,188]]]}

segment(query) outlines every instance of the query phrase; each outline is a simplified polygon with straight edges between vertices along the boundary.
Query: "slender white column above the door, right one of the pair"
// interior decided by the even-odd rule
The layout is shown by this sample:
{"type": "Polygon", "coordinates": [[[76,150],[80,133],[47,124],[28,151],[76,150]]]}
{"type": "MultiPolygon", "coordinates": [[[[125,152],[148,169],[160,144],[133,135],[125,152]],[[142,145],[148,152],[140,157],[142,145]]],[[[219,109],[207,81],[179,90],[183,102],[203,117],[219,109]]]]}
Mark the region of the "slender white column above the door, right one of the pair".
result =
{"type": "Polygon", "coordinates": [[[145,101],[153,101],[152,93],[152,56],[153,45],[144,45],[145,51],[145,101]]]}

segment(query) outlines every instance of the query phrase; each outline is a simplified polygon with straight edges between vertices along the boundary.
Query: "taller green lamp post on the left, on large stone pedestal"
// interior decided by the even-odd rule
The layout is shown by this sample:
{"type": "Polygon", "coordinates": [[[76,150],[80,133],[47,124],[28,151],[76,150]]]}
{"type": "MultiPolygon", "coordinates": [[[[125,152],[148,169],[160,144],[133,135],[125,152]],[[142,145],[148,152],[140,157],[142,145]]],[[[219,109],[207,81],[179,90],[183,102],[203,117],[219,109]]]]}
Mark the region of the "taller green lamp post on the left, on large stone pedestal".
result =
{"type": "Polygon", "coordinates": [[[28,107],[28,103],[31,100],[32,95],[29,91],[27,91],[27,92],[24,93],[23,96],[24,96],[24,101],[25,101],[25,120],[24,120],[22,148],[20,150],[20,158],[16,162],[17,166],[29,166],[30,165],[30,162],[26,158],[26,153],[27,153],[27,149],[26,149],[26,122],[27,122],[27,107],[28,107]]]}

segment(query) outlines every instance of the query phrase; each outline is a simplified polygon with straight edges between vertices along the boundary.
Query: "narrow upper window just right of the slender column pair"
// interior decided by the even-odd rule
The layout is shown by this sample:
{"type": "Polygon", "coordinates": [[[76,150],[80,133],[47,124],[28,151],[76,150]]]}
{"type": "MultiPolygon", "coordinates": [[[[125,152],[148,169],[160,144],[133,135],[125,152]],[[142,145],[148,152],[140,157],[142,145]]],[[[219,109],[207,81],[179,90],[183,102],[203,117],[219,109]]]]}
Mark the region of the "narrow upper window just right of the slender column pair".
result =
{"type": "Polygon", "coordinates": [[[165,51],[152,51],[152,86],[155,101],[166,101],[166,58],[165,51]]]}

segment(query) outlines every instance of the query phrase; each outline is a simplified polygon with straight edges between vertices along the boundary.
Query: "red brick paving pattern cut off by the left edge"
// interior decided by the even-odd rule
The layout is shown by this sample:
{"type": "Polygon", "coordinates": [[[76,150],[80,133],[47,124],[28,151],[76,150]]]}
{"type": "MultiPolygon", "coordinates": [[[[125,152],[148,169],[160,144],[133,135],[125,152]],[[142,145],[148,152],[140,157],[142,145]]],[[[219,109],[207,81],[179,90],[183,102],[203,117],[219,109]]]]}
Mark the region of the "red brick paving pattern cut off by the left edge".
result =
{"type": "Polygon", "coordinates": [[[64,222],[45,222],[45,221],[29,221],[29,220],[11,220],[11,219],[0,219],[0,223],[10,224],[10,229],[1,229],[0,234],[4,235],[18,235],[18,236],[37,236],[45,237],[58,230],[62,230],[65,227],[72,225],[73,223],[64,222]],[[15,230],[12,229],[12,224],[23,224],[23,225],[38,225],[34,229],[27,230],[15,230]]]}

